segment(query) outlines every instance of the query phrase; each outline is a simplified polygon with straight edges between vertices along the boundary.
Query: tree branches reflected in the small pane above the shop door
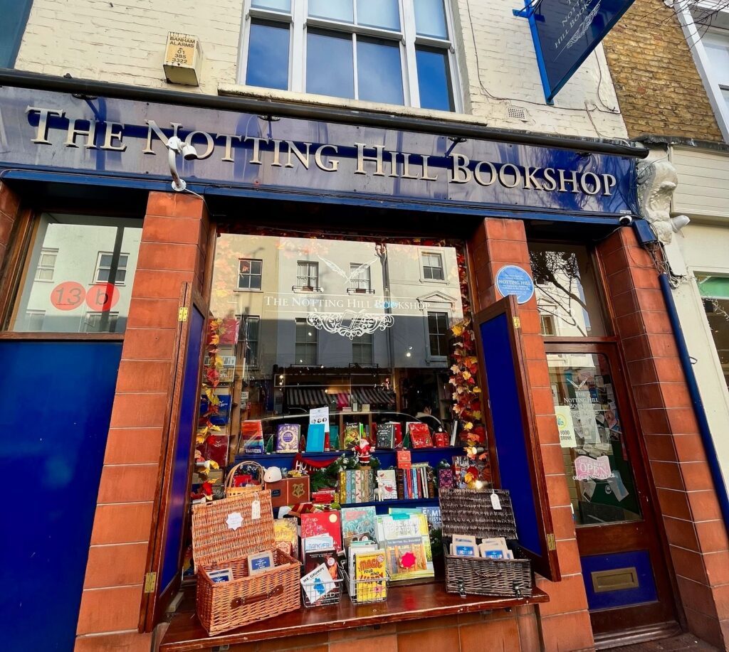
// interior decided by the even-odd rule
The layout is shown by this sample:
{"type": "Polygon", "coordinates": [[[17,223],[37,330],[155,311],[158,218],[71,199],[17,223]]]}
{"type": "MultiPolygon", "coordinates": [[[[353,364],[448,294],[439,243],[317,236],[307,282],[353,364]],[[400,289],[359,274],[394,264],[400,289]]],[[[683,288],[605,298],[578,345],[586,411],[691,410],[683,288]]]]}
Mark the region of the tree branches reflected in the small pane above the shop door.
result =
{"type": "Polygon", "coordinates": [[[580,266],[574,253],[562,251],[529,252],[531,273],[539,291],[550,303],[539,301],[537,307],[542,314],[550,314],[569,326],[577,328],[582,335],[587,335],[584,324],[577,321],[572,308],[572,301],[582,311],[587,312],[587,304],[580,296],[580,266]]]}

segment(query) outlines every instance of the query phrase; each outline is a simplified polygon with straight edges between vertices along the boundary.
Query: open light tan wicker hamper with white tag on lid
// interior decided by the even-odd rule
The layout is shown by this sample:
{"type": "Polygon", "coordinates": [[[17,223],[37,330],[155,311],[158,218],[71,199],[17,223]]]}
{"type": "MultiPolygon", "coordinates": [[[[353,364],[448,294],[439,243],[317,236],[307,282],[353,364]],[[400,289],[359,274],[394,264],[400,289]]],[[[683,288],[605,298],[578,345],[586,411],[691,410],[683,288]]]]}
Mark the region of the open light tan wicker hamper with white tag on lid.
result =
{"type": "Polygon", "coordinates": [[[208,635],[300,607],[300,562],[275,547],[270,491],[193,506],[192,551],[198,618],[208,635]],[[268,550],[274,568],[249,575],[248,555],[268,550]],[[218,568],[233,570],[233,580],[212,581],[208,571],[218,568]]]}

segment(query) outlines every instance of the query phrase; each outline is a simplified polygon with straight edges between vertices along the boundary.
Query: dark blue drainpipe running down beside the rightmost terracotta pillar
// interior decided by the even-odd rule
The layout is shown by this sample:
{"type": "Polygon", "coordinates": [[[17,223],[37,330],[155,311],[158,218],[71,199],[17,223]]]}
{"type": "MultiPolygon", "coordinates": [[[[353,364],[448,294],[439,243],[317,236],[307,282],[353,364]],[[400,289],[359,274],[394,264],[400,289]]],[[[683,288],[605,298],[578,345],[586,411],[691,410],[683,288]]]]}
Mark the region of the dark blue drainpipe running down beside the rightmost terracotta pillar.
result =
{"type": "Polygon", "coordinates": [[[659,275],[658,279],[660,280],[660,290],[663,293],[663,298],[666,300],[668,319],[671,320],[671,327],[674,331],[676,346],[679,349],[679,358],[681,359],[681,366],[683,367],[684,375],[686,376],[688,391],[691,397],[691,405],[693,406],[693,413],[696,416],[696,421],[698,421],[698,432],[701,434],[703,450],[706,453],[706,459],[709,461],[709,469],[712,472],[712,480],[714,480],[714,487],[717,490],[717,498],[719,498],[722,518],[724,519],[724,528],[729,531],[729,496],[727,495],[727,487],[722,475],[722,469],[719,466],[717,449],[714,447],[712,432],[709,429],[709,420],[706,418],[706,410],[703,409],[701,394],[698,391],[696,375],[693,373],[693,365],[691,364],[686,340],[679,322],[676,303],[674,303],[674,295],[671,293],[671,284],[668,282],[668,274],[663,272],[663,274],[659,275]]]}

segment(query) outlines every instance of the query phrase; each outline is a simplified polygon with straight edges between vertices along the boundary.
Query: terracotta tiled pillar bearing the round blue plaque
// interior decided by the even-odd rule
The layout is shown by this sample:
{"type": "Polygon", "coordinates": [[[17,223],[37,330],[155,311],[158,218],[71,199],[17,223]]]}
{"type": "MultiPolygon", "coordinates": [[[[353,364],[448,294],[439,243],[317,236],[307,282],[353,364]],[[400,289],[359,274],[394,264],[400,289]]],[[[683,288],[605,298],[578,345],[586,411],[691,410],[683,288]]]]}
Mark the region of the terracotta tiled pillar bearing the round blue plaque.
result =
{"type": "MultiPolygon", "coordinates": [[[[496,293],[496,272],[504,265],[518,265],[531,275],[529,249],[521,220],[489,218],[483,220],[469,243],[475,286],[472,294],[476,310],[490,306],[496,293]]],[[[550,603],[539,605],[539,621],[544,648],[582,650],[593,648],[587,597],[582,583],[580,554],[569,506],[564,477],[547,356],[542,341],[537,300],[520,306],[521,328],[529,367],[529,385],[534,402],[537,434],[547,476],[547,497],[557,538],[561,582],[539,579],[539,588],[550,595],[550,603]]]]}

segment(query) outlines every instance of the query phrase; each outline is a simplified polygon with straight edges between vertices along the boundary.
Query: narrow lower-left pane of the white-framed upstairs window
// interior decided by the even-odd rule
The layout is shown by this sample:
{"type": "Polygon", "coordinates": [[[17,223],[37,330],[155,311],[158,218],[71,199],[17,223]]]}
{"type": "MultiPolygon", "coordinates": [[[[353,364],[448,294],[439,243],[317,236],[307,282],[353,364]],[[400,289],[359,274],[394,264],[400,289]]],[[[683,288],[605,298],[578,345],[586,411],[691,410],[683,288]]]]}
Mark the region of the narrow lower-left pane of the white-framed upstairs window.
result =
{"type": "Polygon", "coordinates": [[[246,84],[289,88],[289,26],[284,23],[251,23],[246,84]]]}

